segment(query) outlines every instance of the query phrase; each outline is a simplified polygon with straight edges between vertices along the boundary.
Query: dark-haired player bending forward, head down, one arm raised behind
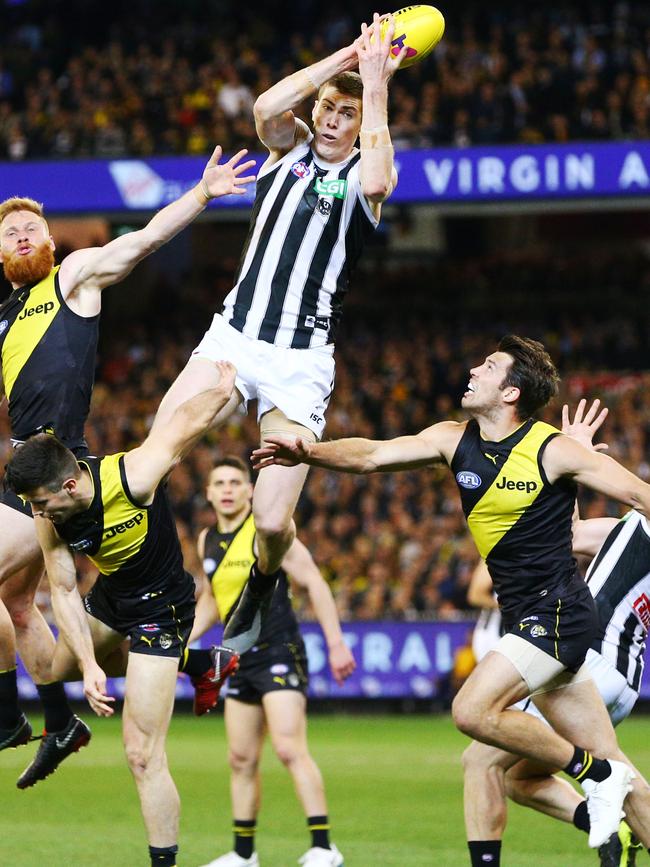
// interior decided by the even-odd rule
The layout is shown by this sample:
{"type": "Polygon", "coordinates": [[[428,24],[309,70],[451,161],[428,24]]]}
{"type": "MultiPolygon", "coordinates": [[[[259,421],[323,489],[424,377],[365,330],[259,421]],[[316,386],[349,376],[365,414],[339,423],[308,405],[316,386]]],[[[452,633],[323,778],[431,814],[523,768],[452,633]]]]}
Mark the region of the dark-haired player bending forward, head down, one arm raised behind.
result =
{"type": "MultiPolygon", "coordinates": [[[[176,864],[179,800],[165,740],[179,661],[194,620],[194,581],[183,569],[160,483],[232,395],[235,368],[225,362],[217,367],[217,388],[182,404],[169,425],[139,448],[77,460],[55,437],[37,434],[16,451],[6,471],[7,485],[32,507],[45,558],[59,626],[54,674],[61,680],[81,675],[84,694],[100,716],[113,713],[113,698],[106,694],[98,661],[112,664],[114,651],[130,639],[123,737],[152,867],[176,864]],[[99,570],[85,610],[73,551],[86,554],[99,570]]],[[[226,670],[233,654],[218,651],[217,667],[226,670]]],[[[209,665],[213,659],[207,653],[209,665]]],[[[42,749],[47,758],[48,748],[42,749]]]]}

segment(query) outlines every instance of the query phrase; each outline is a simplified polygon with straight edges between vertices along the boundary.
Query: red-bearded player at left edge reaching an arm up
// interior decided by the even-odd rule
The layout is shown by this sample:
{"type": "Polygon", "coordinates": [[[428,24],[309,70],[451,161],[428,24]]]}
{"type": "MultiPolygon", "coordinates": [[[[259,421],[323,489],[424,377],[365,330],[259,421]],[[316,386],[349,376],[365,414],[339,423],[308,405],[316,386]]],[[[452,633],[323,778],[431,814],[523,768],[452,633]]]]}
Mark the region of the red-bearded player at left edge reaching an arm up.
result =
{"type": "MultiPolygon", "coordinates": [[[[0,203],[0,262],[13,290],[0,305],[0,378],[14,445],[48,430],[77,456],[88,453],[83,429],[102,290],[187,226],[209,199],[242,193],[243,185],[254,180],[241,177],[253,164],[239,164],[245,153],[220,166],[217,148],[199,184],[143,229],[104,247],[76,250],[60,267],[54,267],[54,241],[42,206],[23,197],[0,203]]],[[[0,750],[27,743],[32,733],[18,706],[18,652],[43,703],[45,737],[55,751],[56,767],[72,746],[87,743],[90,730],[73,716],[62,685],[52,682],[54,637],[34,604],[42,572],[31,513],[11,492],[0,493],[0,750]]],[[[23,775],[18,786],[37,779],[23,775]]]]}

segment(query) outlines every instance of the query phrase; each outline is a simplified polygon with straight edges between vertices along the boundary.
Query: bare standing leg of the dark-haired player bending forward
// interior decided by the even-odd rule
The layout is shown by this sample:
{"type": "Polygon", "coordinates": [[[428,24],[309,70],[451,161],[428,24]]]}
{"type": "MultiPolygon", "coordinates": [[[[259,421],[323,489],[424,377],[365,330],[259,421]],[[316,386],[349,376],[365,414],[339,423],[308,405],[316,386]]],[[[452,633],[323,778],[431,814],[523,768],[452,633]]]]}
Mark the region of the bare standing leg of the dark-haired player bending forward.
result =
{"type": "Polygon", "coordinates": [[[174,867],[178,847],[180,799],[165,753],[177,672],[178,659],[130,653],[122,715],[124,749],[140,797],[151,863],[164,867],[174,867]]]}

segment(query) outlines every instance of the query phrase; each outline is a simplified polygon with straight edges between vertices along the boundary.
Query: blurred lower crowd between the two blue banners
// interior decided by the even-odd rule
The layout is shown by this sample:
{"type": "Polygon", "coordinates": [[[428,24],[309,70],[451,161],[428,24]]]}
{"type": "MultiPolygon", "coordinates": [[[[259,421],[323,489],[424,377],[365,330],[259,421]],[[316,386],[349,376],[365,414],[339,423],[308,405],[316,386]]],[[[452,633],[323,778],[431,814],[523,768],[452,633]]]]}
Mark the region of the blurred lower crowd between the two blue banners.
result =
{"type": "MultiPolygon", "coordinates": [[[[634,285],[638,291],[650,277],[647,266],[640,270],[638,259],[614,257],[609,267],[599,264],[600,282],[592,281],[594,297],[598,292],[617,291],[631,297],[627,290],[634,285]]],[[[430,281],[431,271],[426,273],[430,281]]],[[[579,297],[580,281],[590,282],[580,258],[558,260],[555,268],[541,260],[537,265],[531,259],[525,264],[508,263],[494,256],[445,260],[444,270],[436,275],[436,297],[458,297],[469,274],[475,285],[480,275],[484,293],[497,310],[500,299],[507,297],[511,303],[514,299],[512,294],[500,295],[499,286],[519,286],[533,298],[541,292],[546,297],[564,293],[566,308],[579,297]],[[525,286],[520,279],[524,272],[529,281],[525,286]],[[574,285],[576,296],[571,294],[574,285]]],[[[537,307],[536,325],[525,314],[520,321],[509,317],[501,322],[495,317],[480,332],[471,315],[465,321],[424,314],[395,321],[381,309],[389,302],[395,278],[384,279],[383,287],[377,275],[359,275],[355,281],[337,345],[336,388],[326,436],[383,439],[460,418],[468,370],[511,328],[543,339],[563,374],[561,397],[545,413],[545,420],[559,423],[564,400],[575,404],[583,394],[602,397],[612,409],[604,431],[610,453],[650,479],[645,457],[650,442],[650,376],[626,372],[643,368],[648,327],[643,317],[635,327],[629,319],[604,315],[602,310],[593,319],[566,315],[544,322],[537,307]],[[373,310],[378,314],[375,319],[373,310]],[[603,370],[608,372],[602,374],[603,370]]],[[[427,284],[418,285],[413,274],[409,286],[415,303],[419,291],[430,292],[427,284]]],[[[110,325],[105,332],[110,337],[100,354],[87,426],[95,454],[133,447],[146,436],[162,395],[196,345],[211,309],[218,307],[203,285],[184,284],[182,300],[162,284],[156,294],[154,309],[130,323],[122,322],[119,337],[110,325]],[[170,321],[175,326],[173,335],[170,321]]],[[[0,420],[0,436],[5,441],[9,436],[5,417],[0,420]]],[[[238,415],[195,448],[171,477],[186,563],[195,574],[201,568],[196,537],[213,520],[203,495],[212,460],[224,453],[248,459],[256,442],[254,411],[238,415]]],[[[617,507],[601,498],[584,500],[583,507],[586,515],[618,514],[617,507]]],[[[466,590],[477,553],[455,482],[445,469],[365,477],[312,470],[297,521],[301,539],[335,590],[342,617],[453,618],[467,608],[466,590]]],[[[86,574],[88,561],[80,558],[79,567],[86,574]]],[[[300,605],[308,616],[304,600],[300,605]]]]}

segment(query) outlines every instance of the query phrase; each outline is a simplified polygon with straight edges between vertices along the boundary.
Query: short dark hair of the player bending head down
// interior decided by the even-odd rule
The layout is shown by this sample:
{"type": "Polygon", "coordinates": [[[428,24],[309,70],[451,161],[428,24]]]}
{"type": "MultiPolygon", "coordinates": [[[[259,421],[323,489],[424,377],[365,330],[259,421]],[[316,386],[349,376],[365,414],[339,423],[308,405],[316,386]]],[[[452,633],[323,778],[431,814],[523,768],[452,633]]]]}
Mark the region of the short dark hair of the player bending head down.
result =
{"type": "Polygon", "coordinates": [[[36,434],[16,449],[5,467],[5,487],[16,494],[36,488],[60,491],[66,479],[80,477],[70,449],[51,434],[36,434]]]}

